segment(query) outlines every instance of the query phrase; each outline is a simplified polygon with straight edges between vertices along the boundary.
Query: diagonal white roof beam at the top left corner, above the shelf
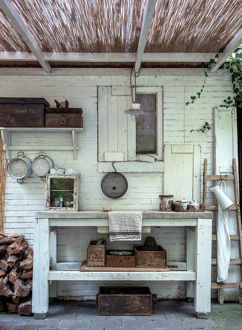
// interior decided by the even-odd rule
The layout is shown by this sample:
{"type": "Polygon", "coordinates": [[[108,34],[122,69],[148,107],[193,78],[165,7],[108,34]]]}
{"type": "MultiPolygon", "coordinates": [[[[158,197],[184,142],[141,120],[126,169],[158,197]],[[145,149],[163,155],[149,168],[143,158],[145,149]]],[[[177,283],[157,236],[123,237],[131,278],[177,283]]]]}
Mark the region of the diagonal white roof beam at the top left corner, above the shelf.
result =
{"type": "Polygon", "coordinates": [[[31,32],[29,31],[25,21],[17,12],[13,2],[11,0],[0,0],[0,7],[4,11],[5,15],[14,25],[17,32],[20,34],[26,45],[33,52],[36,59],[40,62],[46,73],[51,72],[51,67],[48,62],[44,59],[44,54],[31,32]]]}

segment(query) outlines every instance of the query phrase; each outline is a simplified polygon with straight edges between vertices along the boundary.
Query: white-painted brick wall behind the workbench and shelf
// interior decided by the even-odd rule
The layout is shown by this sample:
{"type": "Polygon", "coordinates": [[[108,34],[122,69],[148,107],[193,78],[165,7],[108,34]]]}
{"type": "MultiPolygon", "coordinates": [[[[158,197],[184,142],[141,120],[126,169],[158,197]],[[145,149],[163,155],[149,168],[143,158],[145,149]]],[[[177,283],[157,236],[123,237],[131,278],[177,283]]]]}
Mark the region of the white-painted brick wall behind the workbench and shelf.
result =
{"type": "MultiPolygon", "coordinates": [[[[204,158],[208,159],[208,174],[214,171],[213,129],[206,133],[190,132],[199,129],[205,121],[212,123],[213,107],[219,107],[227,96],[232,96],[230,76],[218,71],[207,78],[207,84],[200,100],[185,106],[191,95],[196,95],[203,84],[203,77],[139,77],[138,86],[164,86],[164,144],[196,144],[201,146],[201,175],[204,158]]],[[[98,173],[97,164],[97,85],[129,85],[129,77],[1,77],[0,97],[45,97],[51,106],[54,99],[68,99],[71,107],[83,109],[84,133],[78,135],[78,159],[73,160],[71,151],[46,151],[54,165],[62,165],[67,159],[66,168],[74,167],[82,175],[82,204],[85,210],[101,210],[111,207],[113,210],[157,210],[158,196],[163,190],[162,173],[126,173],[129,188],[122,199],[110,200],[101,191],[100,182],[104,174],[98,173]]],[[[100,101],[100,100],[99,100],[100,101]]],[[[124,102],[124,108],[125,108],[124,102]]],[[[126,108],[125,108],[126,109],[126,108]]],[[[124,110],[125,110],[124,109],[124,110]]],[[[112,129],[112,128],[109,128],[112,129]]],[[[25,152],[33,160],[41,151],[41,143],[65,144],[72,142],[69,134],[54,133],[14,133],[11,142],[14,144],[40,144],[36,151],[25,152]]],[[[107,143],[107,141],[105,142],[107,143]]],[[[117,143],[123,141],[115,141],[117,143]]],[[[116,149],[114,149],[115,151],[116,149]]],[[[24,150],[23,150],[24,151],[24,150]]],[[[16,152],[12,152],[12,157],[16,152]]],[[[212,184],[212,182],[209,182],[212,184]]],[[[201,186],[202,192],[202,186],[201,186]]],[[[208,196],[208,203],[213,197],[208,196]]],[[[183,196],[182,196],[183,197],[183,196]]],[[[185,196],[184,196],[185,197],[185,196]]],[[[35,175],[18,184],[8,176],[6,189],[5,233],[23,233],[30,246],[33,245],[34,212],[44,209],[45,183],[35,175]]],[[[158,244],[167,250],[169,261],[184,261],[185,233],[183,228],[153,228],[153,235],[158,244]]],[[[86,247],[90,239],[103,237],[96,228],[59,229],[58,261],[82,261],[86,258],[86,247]]],[[[145,236],[143,237],[143,239],[145,236]]],[[[124,245],[118,243],[117,248],[124,245]]],[[[127,245],[126,245],[127,246],[127,245]]],[[[110,242],[108,243],[110,247],[110,242]]],[[[216,248],[216,246],[214,245],[216,248]]],[[[216,251],[212,251],[215,253],[216,251]]],[[[215,267],[212,268],[215,278],[215,267]]],[[[58,285],[59,296],[81,296],[85,299],[94,298],[98,286],[96,282],[62,282],[58,285]]],[[[127,283],[125,283],[127,284],[127,283]]],[[[136,284],[136,283],[135,283],[136,284]]],[[[132,284],[134,285],[134,283],[132,284]]],[[[160,297],[184,297],[184,283],[150,283],[152,293],[160,297]]]]}

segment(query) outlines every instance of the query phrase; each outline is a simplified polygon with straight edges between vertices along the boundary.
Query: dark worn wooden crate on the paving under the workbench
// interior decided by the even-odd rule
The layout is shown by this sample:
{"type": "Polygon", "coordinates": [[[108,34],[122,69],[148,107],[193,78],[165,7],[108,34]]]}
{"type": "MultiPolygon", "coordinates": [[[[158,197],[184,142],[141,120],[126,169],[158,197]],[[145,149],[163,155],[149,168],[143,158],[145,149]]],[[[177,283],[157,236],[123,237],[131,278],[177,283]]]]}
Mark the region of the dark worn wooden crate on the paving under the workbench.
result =
{"type": "Polygon", "coordinates": [[[151,315],[149,287],[100,286],[97,294],[98,315],[151,315]]]}

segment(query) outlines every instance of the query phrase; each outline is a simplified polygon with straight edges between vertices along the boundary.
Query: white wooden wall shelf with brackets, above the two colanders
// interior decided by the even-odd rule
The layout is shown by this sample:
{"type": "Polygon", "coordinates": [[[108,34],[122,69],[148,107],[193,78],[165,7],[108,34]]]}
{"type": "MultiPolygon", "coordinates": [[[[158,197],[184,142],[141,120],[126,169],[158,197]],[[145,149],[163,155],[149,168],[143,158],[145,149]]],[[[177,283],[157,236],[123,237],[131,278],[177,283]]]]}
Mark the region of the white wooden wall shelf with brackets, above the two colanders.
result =
{"type": "Polygon", "coordinates": [[[11,150],[73,150],[73,157],[77,159],[77,150],[80,147],[77,146],[77,133],[84,132],[81,127],[0,127],[4,148],[6,150],[7,159],[11,158],[11,150]],[[11,145],[10,134],[11,132],[41,132],[41,133],[72,133],[73,146],[55,146],[55,145],[11,145]]]}

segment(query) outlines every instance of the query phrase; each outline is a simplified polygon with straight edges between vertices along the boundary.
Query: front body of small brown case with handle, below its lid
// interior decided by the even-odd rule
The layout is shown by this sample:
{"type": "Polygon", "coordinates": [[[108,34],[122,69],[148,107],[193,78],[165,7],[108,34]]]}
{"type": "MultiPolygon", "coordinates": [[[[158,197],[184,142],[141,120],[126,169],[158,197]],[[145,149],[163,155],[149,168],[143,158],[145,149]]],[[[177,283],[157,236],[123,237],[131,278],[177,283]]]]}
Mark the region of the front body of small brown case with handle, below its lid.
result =
{"type": "Polygon", "coordinates": [[[45,114],[45,127],[82,127],[81,114],[45,114]]]}

